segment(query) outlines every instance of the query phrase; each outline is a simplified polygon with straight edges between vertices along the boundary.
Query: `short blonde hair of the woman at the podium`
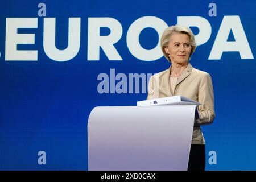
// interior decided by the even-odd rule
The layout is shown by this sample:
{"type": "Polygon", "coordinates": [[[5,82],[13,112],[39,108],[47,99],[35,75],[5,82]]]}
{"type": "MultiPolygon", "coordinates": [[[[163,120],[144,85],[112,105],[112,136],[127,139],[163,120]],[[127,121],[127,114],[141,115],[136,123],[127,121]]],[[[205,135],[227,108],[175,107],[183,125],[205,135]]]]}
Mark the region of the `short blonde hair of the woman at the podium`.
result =
{"type": "Polygon", "coordinates": [[[170,37],[172,35],[174,35],[175,33],[186,34],[189,36],[190,45],[191,45],[191,53],[188,58],[188,61],[189,61],[191,58],[191,55],[193,54],[193,52],[195,52],[195,49],[196,49],[195,36],[190,28],[182,27],[182,26],[179,26],[178,24],[176,24],[175,26],[166,28],[166,30],[164,30],[164,32],[163,32],[163,35],[161,38],[161,49],[164,54],[164,57],[166,57],[166,59],[169,61],[169,57],[165,51],[165,48],[168,47],[168,45],[170,43],[170,37]]]}

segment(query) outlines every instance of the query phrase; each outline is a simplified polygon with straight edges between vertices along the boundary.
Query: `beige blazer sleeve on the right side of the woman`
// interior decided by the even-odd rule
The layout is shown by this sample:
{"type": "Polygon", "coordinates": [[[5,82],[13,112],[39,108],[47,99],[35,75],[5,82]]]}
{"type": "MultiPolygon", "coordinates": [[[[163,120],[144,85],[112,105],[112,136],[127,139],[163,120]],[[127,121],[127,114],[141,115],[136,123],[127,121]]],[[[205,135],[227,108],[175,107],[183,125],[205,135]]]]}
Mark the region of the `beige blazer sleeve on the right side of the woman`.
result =
{"type": "Polygon", "coordinates": [[[201,102],[202,105],[197,107],[199,111],[199,118],[196,119],[195,126],[212,123],[215,118],[214,94],[212,78],[209,73],[205,73],[203,78],[200,80],[198,101],[201,102]]]}

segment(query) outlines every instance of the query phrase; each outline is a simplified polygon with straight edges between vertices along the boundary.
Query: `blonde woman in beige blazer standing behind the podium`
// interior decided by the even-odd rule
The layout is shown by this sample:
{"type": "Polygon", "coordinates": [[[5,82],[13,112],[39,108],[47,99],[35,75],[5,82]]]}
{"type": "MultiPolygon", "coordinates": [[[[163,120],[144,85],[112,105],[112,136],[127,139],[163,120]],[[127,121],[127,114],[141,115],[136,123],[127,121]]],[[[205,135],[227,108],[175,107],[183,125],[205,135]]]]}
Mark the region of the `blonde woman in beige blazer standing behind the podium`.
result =
{"type": "Polygon", "coordinates": [[[215,118],[212,78],[209,73],[193,68],[189,63],[196,49],[190,28],[168,27],[163,32],[161,48],[171,66],[150,78],[147,100],[185,96],[202,104],[197,108],[199,118],[193,128],[188,170],[204,170],[205,139],[200,126],[212,123],[215,118]]]}

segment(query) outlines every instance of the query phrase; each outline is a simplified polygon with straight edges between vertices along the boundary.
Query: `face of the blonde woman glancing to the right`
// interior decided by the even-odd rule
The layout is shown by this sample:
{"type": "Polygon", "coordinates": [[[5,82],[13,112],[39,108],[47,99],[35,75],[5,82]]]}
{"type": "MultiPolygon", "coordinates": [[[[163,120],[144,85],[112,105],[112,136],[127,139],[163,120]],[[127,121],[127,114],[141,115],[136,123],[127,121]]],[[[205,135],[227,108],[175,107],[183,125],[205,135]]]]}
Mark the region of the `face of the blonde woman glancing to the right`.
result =
{"type": "Polygon", "coordinates": [[[191,53],[191,45],[187,34],[176,33],[170,37],[170,43],[165,48],[172,64],[185,65],[191,53]]]}

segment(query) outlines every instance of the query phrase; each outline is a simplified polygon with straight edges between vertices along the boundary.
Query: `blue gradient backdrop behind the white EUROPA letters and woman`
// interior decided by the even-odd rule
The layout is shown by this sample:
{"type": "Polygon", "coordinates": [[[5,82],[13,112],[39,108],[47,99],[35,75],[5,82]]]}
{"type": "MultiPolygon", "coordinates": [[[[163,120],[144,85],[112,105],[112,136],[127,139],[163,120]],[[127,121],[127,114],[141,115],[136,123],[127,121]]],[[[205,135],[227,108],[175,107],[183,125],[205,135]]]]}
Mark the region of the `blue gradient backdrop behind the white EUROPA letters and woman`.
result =
{"type": "MultiPolygon", "coordinates": [[[[95,106],[136,105],[147,94],[98,94],[97,76],[110,73],[157,73],[169,67],[162,57],[141,61],[129,52],[126,34],[142,16],[157,16],[169,26],[177,16],[202,16],[212,26],[207,43],[198,46],[191,64],[212,76],[216,119],[203,126],[207,154],[217,152],[217,165],[207,170],[256,169],[255,59],[242,60],[238,52],[224,52],[221,60],[208,60],[218,28],[225,15],[239,15],[255,55],[256,1],[214,1],[217,17],[208,16],[212,1],[43,1],[47,16],[56,17],[56,47],[68,40],[68,18],[81,17],[81,44],[76,57],[67,62],[49,59],[43,50],[42,1],[3,1],[0,6],[0,169],[87,170],[87,120],[95,106]],[[246,3],[245,3],[246,2],[246,3]],[[5,61],[5,19],[38,18],[38,28],[19,30],[35,34],[38,61],[5,61]],[[109,61],[100,51],[100,61],[87,61],[88,17],[112,17],[121,22],[122,38],[115,48],[123,61],[109,61]],[[38,151],[46,151],[47,165],[38,164],[38,151]]],[[[196,28],[192,28],[195,34],[196,28]]],[[[102,28],[101,35],[108,35],[102,28]]],[[[229,40],[233,40],[230,33],[229,40]]],[[[146,28],[140,36],[144,48],[154,48],[158,35],[146,28]]],[[[154,164],[152,164],[154,165],[154,164]]]]}

